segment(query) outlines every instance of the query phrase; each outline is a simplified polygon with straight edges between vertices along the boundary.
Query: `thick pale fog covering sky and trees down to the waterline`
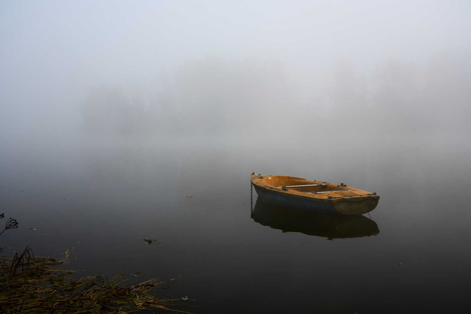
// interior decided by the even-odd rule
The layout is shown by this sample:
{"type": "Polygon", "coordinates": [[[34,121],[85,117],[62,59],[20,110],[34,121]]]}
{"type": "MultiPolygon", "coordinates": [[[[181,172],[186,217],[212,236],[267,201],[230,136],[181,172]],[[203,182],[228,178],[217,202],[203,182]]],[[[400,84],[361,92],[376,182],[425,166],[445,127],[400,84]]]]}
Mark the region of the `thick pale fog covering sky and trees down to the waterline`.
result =
{"type": "Polygon", "coordinates": [[[3,138],[469,133],[467,1],[3,1],[3,138]]]}

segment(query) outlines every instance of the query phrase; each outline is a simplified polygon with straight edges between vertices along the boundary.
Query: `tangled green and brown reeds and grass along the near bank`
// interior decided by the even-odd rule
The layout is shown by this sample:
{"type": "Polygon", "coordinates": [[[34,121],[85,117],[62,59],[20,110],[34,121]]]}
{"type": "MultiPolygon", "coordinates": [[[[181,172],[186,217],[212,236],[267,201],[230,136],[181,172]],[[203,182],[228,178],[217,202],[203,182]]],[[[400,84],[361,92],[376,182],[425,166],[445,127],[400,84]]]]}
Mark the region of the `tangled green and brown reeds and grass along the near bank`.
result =
{"type": "Polygon", "coordinates": [[[132,286],[134,274],[75,279],[72,275],[77,271],[56,268],[69,263],[71,254],[68,249],[59,259],[35,257],[28,246],[22,254],[1,258],[0,313],[189,313],[167,307],[185,306],[176,303],[181,298],[161,299],[155,294],[156,290],[169,288],[158,279],[132,286]]]}

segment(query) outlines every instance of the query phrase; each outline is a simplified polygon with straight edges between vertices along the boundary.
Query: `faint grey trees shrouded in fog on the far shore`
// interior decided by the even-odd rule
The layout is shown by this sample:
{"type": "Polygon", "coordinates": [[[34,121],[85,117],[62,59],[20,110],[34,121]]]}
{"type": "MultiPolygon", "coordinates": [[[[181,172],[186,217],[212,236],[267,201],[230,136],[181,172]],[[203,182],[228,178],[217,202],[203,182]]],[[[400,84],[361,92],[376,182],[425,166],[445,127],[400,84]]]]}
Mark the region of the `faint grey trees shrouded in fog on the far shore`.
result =
{"type": "Polygon", "coordinates": [[[283,64],[205,58],[152,89],[89,90],[82,128],[97,135],[468,132],[471,58],[443,53],[418,66],[390,59],[362,76],[337,63],[325,95],[297,98],[283,64]]]}

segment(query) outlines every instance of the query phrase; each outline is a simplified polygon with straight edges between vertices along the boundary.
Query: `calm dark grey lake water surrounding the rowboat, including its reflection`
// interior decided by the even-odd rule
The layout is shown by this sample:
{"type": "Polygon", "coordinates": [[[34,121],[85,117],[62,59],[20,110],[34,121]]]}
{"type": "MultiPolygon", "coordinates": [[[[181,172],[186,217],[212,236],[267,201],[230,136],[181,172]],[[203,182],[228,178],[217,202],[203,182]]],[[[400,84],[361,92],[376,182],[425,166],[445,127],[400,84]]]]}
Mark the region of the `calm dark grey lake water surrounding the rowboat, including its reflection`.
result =
{"type": "Polygon", "coordinates": [[[181,274],[162,295],[195,299],[193,313],[469,308],[466,137],[1,141],[0,213],[19,222],[0,238],[4,255],[75,247],[67,267],[83,276],[181,274]],[[301,215],[256,194],[251,213],[253,171],[381,199],[372,220],[301,215]]]}

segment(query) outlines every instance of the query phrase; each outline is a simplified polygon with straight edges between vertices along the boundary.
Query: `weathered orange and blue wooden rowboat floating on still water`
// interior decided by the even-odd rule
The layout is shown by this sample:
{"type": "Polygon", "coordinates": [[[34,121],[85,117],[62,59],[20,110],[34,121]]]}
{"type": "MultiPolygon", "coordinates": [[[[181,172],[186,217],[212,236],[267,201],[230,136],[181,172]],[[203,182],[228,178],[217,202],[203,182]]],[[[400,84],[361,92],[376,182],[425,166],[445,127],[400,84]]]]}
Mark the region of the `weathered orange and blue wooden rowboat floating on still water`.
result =
{"type": "Polygon", "coordinates": [[[299,177],[262,176],[252,173],[255,192],[268,204],[322,215],[363,215],[378,205],[379,195],[299,177]]]}

